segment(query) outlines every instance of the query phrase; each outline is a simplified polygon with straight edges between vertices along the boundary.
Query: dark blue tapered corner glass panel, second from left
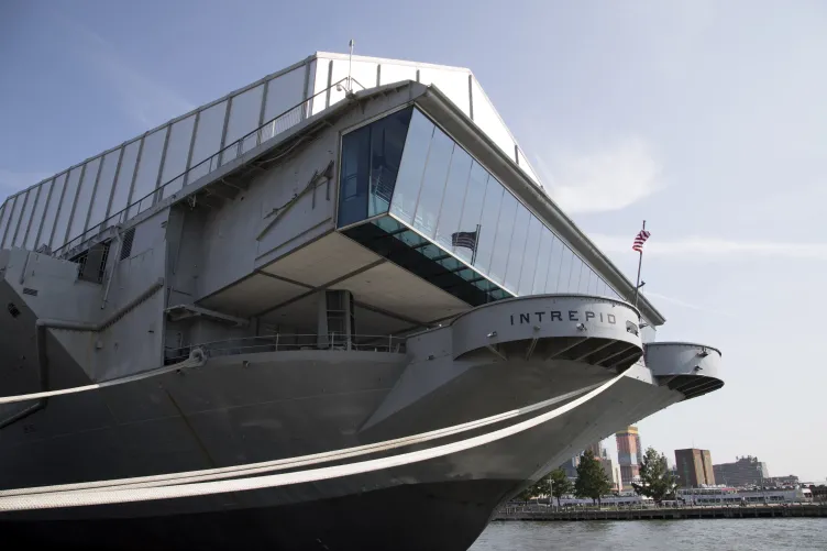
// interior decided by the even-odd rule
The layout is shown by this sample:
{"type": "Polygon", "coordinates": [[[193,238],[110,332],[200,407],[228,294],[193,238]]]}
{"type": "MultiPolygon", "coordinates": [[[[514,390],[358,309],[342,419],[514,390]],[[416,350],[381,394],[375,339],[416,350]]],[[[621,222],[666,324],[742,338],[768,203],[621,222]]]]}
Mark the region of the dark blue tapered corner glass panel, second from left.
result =
{"type": "Polygon", "coordinates": [[[370,201],[367,216],[388,211],[399,163],[405,148],[405,137],[410,123],[411,109],[404,109],[370,125],[370,201]]]}

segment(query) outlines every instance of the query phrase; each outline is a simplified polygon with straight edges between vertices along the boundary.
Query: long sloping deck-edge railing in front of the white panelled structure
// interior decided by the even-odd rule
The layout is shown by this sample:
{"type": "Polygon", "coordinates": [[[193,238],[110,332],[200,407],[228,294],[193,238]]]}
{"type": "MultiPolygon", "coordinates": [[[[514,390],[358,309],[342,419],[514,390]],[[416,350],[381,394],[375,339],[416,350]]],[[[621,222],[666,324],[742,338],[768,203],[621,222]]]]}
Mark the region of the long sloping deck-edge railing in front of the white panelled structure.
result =
{"type": "Polygon", "coordinates": [[[87,241],[93,240],[109,228],[125,223],[128,220],[136,217],[145,210],[148,210],[162,200],[176,195],[178,191],[186,188],[198,178],[212,173],[217,168],[241,157],[244,153],[257,147],[264,142],[276,137],[277,135],[286,132],[287,130],[290,130],[291,128],[309,119],[310,117],[318,114],[313,112],[313,101],[320,99],[320,97],[323,97],[323,95],[327,95],[332,89],[338,88],[344,89],[346,91],[353,91],[353,85],[359,86],[363,90],[366,89],[355,78],[342,78],[341,80],[330,85],[323,90],[320,90],[311,97],[302,100],[300,103],[291,107],[287,111],[276,115],[252,132],[241,136],[230,145],[224,146],[218,153],[210,155],[197,165],[190,166],[175,178],[166,181],[165,184],[162,184],[157,188],[146,194],[144,197],[131,202],[120,211],[110,216],[104,221],[95,224],[95,227],[89,228],[80,235],[60,245],[52,254],[54,256],[58,256],[63,253],[66,253],[67,251],[71,251],[76,247],[79,247],[80,245],[84,245],[87,241]]]}

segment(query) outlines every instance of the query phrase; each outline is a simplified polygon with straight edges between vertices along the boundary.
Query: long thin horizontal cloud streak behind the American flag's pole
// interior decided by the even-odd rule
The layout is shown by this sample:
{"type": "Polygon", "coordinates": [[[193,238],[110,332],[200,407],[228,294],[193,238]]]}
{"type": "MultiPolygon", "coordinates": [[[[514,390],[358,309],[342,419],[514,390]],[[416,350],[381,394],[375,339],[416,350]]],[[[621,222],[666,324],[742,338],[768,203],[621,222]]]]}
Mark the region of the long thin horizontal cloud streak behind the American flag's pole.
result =
{"type": "MultiPolygon", "coordinates": [[[[628,236],[593,234],[592,240],[605,252],[619,253],[631,251],[628,236]]],[[[696,260],[698,257],[739,258],[745,256],[767,256],[805,260],[827,260],[827,243],[782,243],[765,241],[730,241],[715,238],[687,238],[664,241],[650,239],[646,244],[646,254],[658,256],[677,256],[696,260]]]]}

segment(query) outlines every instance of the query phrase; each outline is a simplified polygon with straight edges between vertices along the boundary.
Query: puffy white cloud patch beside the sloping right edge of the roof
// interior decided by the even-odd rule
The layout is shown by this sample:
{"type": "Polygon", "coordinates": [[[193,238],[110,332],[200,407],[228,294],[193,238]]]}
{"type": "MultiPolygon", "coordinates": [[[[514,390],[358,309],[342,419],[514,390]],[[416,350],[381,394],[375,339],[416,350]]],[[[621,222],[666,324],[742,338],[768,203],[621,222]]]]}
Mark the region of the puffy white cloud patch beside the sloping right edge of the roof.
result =
{"type": "Polygon", "coordinates": [[[663,187],[661,166],[651,146],[626,137],[589,153],[561,153],[537,165],[551,198],[569,212],[620,210],[663,187]]]}

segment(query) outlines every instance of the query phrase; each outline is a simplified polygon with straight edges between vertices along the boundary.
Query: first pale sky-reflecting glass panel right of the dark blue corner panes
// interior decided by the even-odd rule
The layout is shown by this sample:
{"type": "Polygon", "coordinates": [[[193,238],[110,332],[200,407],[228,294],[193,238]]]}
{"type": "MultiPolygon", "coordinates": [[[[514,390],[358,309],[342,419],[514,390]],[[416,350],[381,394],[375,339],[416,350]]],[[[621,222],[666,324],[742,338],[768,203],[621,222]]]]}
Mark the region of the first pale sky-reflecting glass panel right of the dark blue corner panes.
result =
{"type": "Polygon", "coordinates": [[[408,128],[408,136],[405,140],[405,151],[390,205],[390,212],[408,223],[413,221],[419,187],[422,184],[422,170],[428,159],[433,131],[433,123],[415,109],[408,128]]]}

